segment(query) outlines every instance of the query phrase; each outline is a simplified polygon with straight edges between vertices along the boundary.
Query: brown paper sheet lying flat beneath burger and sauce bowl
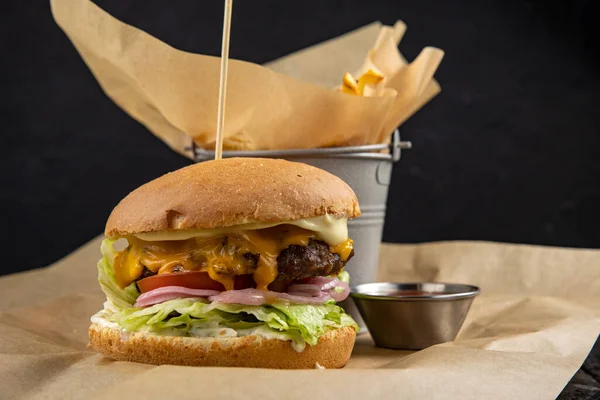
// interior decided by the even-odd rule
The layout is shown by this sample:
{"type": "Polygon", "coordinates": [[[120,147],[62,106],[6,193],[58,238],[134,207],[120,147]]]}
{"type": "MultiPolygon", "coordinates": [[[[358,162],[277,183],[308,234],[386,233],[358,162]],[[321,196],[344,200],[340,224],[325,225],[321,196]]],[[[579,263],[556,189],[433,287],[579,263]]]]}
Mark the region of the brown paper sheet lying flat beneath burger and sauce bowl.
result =
{"type": "Polygon", "coordinates": [[[0,398],[551,399],[600,332],[600,251],[448,242],[384,245],[380,279],[481,285],[459,337],[419,352],[358,337],[343,370],[115,362],[86,349],[101,238],[0,278],[0,398]]]}

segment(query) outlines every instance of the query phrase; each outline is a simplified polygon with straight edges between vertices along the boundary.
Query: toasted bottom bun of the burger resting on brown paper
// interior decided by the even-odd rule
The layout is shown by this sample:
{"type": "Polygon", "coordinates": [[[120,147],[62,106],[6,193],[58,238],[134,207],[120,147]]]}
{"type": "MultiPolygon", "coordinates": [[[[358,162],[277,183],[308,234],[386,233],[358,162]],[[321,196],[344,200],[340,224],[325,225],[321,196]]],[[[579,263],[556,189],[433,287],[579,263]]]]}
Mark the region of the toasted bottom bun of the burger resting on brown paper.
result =
{"type": "Polygon", "coordinates": [[[316,363],[325,368],[342,368],[348,362],[356,331],[344,327],[327,332],[317,345],[303,352],[291,342],[261,336],[237,338],[194,338],[159,336],[144,332],[92,324],[90,347],[119,361],[211,367],[309,369],[316,363]]]}

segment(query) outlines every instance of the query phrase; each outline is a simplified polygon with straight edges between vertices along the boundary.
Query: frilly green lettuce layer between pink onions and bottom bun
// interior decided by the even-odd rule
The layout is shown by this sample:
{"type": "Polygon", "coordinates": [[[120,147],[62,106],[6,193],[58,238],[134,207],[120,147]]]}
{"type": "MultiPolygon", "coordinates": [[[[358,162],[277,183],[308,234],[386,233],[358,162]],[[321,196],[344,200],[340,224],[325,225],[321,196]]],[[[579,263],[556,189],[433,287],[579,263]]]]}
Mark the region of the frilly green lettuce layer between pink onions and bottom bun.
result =
{"type": "Polygon", "coordinates": [[[109,320],[131,332],[291,340],[298,351],[307,343],[316,345],[329,330],[351,326],[358,331],[354,320],[335,304],[245,306],[175,299],[147,308],[122,309],[109,320]]]}

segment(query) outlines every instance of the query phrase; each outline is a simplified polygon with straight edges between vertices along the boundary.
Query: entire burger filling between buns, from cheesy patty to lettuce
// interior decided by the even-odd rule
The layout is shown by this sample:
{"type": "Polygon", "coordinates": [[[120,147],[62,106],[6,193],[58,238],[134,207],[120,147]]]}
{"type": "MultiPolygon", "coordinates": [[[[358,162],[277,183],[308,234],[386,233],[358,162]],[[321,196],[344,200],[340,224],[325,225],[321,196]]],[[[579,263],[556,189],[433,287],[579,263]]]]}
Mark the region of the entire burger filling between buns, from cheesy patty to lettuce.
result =
{"type": "MultiPolygon", "coordinates": [[[[345,221],[344,221],[345,222],[345,221]]],[[[160,335],[290,340],[301,351],[327,331],[356,323],[337,306],[353,242],[296,225],[102,245],[107,295],[95,323],[160,335]],[[329,243],[328,243],[329,242],[329,243]]]]}

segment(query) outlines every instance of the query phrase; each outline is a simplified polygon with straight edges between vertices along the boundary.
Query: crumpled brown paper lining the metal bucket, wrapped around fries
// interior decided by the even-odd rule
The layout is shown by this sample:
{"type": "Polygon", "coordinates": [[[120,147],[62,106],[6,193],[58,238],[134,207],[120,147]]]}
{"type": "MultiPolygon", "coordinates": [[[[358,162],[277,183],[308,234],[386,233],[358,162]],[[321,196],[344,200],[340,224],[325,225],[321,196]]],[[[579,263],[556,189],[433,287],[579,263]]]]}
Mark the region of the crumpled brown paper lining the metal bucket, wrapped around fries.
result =
{"type": "MultiPolygon", "coordinates": [[[[192,138],[201,147],[214,148],[218,58],[174,49],[118,21],[89,0],[52,0],[51,5],[56,22],[115,103],[181,154],[191,156],[186,148],[192,138]]],[[[406,64],[397,49],[401,37],[397,29],[382,28],[365,61],[385,73],[379,96],[352,96],[231,60],[224,148],[268,150],[385,142],[399,123],[439,91],[432,79],[443,56],[439,49],[426,48],[413,63],[406,64]]],[[[330,48],[343,53],[341,46],[347,43],[334,41],[330,48]]],[[[299,60],[303,69],[316,68],[302,56],[278,65],[296,63],[297,68],[299,60]]],[[[335,60],[335,64],[339,66],[341,61],[335,60]]]]}

